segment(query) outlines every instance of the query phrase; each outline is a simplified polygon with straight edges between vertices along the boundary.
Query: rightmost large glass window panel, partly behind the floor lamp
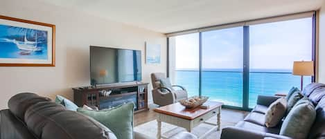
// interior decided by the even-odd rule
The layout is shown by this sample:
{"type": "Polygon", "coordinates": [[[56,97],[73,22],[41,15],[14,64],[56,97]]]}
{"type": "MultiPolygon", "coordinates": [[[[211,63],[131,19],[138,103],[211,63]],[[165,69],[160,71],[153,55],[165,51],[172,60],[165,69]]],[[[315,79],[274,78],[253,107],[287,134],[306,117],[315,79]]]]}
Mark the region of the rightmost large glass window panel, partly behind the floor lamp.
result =
{"type": "MultiPolygon", "coordinates": [[[[313,59],[313,19],[295,19],[249,26],[249,107],[258,95],[300,89],[300,76],[292,75],[294,61],[313,59]]],[[[304,78],[304,84],[311,82],[304,78]]]]}

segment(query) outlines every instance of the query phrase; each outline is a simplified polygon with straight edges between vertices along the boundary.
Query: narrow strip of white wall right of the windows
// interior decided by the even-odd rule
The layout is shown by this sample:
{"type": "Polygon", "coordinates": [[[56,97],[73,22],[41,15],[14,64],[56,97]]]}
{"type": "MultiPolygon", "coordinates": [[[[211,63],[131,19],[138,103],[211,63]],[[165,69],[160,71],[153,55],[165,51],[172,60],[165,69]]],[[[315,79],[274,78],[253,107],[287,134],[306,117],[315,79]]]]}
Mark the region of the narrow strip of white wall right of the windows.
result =
{"type": "Polygon", "coordinates": [[[318,82],[325,83],[325,2],[319,10],[318,82]]]}

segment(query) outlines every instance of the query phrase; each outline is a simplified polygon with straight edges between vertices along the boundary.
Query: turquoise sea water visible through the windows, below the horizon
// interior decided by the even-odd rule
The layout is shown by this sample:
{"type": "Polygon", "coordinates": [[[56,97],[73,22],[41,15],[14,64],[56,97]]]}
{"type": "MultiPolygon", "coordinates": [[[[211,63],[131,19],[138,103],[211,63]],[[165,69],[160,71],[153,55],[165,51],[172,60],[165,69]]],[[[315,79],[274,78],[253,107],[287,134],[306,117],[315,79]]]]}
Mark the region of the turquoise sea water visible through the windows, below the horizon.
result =
{"type": "MultiPolygon", "coordinates": [[[[304,85],[310,81],[310,77],[304,77],[304,85]]],[[[199,71],[176,71],[175,84],[184,86],[189,96],[198,95],[199,71]]],[[[286,93],[292,86],[300,88],[300,76],[291,73],[249,73],[249,107],[255,106],[258,95],[286,93]]],[[[209,96],[209,100],[241,107],[243,105],[243,73],[202,71],[202,95],[209,96]]]]}

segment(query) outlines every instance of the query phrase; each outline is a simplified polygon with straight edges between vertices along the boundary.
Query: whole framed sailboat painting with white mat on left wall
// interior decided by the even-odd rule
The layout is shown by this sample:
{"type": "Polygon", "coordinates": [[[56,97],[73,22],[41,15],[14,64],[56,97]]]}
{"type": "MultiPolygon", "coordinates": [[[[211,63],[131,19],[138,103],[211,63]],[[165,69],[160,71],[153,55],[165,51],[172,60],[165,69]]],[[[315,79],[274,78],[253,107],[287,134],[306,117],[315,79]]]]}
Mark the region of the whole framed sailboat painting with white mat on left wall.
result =
{"type": "Polygon", "coordinates": [[[55,66],[55,25],[0,15],[0,66],[55,66]]]}

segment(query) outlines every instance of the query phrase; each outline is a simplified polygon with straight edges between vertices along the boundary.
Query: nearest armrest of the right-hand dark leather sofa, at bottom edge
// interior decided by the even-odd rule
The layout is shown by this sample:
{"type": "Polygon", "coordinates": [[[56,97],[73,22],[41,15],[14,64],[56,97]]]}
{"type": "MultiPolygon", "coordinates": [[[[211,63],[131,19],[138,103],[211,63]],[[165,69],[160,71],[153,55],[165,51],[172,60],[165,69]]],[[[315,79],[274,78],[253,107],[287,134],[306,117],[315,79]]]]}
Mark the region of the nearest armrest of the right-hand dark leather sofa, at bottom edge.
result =
{"type": "Polygon", "coordinates": [[[260,131],[252,131],[240,129],[238,127],[226,127],[222,129],[221,138],[220,139],[292,139],[287,136],[280,136],[274,133],[264,133],[260,131]]]}

